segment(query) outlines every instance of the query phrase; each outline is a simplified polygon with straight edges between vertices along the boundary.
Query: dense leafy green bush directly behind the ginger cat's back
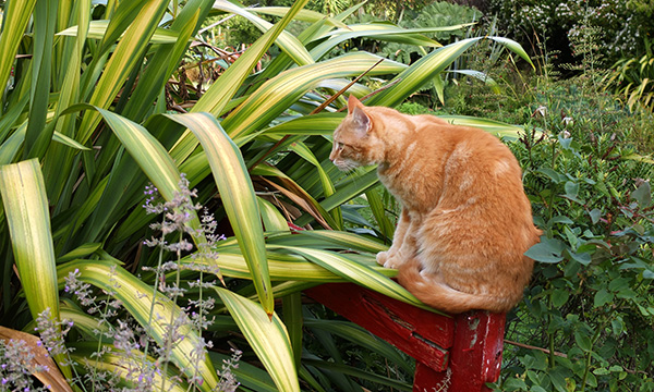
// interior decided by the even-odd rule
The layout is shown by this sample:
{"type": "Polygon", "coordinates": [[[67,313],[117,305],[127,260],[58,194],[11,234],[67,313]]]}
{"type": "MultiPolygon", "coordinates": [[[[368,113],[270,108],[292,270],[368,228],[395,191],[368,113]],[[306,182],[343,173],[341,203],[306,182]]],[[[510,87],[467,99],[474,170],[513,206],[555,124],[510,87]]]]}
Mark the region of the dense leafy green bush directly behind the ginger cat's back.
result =
{"type": "Polygon", "coordinates": [[[546,354],[509,347],[498,388],[650,391],[654,215],[643,179],[654,169],[626,159],[615,135],[553,130],[512,146],[545,233],[526,253],[538,262],[507,339],[546,354]]]}

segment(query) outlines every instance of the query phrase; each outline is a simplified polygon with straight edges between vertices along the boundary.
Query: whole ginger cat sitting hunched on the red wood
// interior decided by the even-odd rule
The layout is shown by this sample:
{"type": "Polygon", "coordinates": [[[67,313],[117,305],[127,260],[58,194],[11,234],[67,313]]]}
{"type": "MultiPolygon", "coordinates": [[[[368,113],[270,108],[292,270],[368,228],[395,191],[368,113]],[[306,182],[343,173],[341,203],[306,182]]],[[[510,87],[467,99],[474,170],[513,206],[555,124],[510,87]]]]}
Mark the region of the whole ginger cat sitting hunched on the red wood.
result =
{"type": "Polygon", "coordinates": [[[377,262],[399,269],[400,284],[423,303],[504,313],[522,298],[533,269],[523,254],[541,232],[518,160],[495,136],[350,96],[329,159],[340,170],[378,166],[402,212],[377,262]]]}

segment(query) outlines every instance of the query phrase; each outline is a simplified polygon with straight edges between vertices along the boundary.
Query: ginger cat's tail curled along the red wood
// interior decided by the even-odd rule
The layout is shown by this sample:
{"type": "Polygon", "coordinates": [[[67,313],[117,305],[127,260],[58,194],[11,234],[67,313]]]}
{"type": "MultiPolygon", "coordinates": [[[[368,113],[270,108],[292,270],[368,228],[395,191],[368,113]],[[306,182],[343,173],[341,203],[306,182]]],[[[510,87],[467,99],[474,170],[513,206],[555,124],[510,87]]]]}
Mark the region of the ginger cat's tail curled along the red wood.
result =
{"type": "Polygon", "coordinates": [[[522,293],[513,297],[464,293],[443,282],[425,278],[420,270],[421,265],[417,259],[407,261],[400,267],[399,283],[426,305],[449,314],[460,314],[473,309],[506,313],[522,297],[522,293]]]}

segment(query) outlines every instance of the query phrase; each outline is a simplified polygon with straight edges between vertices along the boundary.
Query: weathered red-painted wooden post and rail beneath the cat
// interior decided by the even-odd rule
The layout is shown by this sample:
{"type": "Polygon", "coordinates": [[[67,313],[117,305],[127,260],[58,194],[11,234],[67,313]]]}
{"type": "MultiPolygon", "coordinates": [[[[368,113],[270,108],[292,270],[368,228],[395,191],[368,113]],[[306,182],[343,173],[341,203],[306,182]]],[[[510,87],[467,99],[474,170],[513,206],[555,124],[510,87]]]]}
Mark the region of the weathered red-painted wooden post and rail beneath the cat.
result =
{"type": "Polygon", "coordinates": [[[305,294],[414,357],[414,392],[489,391],[485,383],[499,377],[504,314],[441,316],[352,283],[305,294]]]}

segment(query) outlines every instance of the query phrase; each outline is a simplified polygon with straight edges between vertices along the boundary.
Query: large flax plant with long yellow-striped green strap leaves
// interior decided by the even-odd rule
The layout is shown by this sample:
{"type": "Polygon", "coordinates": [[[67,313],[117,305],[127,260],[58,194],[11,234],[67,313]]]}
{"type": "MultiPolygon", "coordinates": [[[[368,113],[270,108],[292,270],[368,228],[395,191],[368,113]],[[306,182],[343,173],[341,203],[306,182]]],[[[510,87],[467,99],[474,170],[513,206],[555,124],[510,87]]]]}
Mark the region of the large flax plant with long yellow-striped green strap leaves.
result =
{"type": "MultiPolygon", "coordinates": [[[[327,360],[300,357],[302,290],[350,281],[423,306],[389,279],[396,271],[374,261],[392,228],[373,230],[374,235],[347,230],[356,219],[347,204],[377,186],[377,179],[374,168],[344,175],[328,160],[344,100],[337,97],[320,113],[314,111],[363,74],[385,81],[385,89],[375,95],[363,78],[344,94],[372,95],[371,105],[398,105],[481,39],[529,59],[502,37],[441,44],[423,35],[429,29],[349,28],[346,20],[358,7],[326,17],[303,10],[306,3],[259,8],[259,14],[278,15],[272,24],[222,0],[62,0],[43,8],[35,1],[5,2],[0,36],[2,324],[27,328],[47,308],[56,323],[63,315],[71,317],[74,324],[64,342],[76,348],[71,360],[83,380],[107,373],[119,385],[136,388],[152,376],[153,390],[232,390],[233,377],[215,370],[226,365],[251,390],[324,390],[335,377],[346,376],[334,376],[327,360]],[[190,42],[203,40],[198,30],[214,14],[238,14],[262,36],[206,86],[186,88],[178,70],[190,42]],[[295,19],[310,24],[298,36],[287,29],[295,19]],[[420,45],[428,53],[410,66],[363,51],[330,54],[339,42],[358,37],[420,45]],[[279,54],[253,73],[271,47],[279,54]],[[190,208],[175,229],[194,235],[180,234],[183,245],[177,248],[149,249],[143,243],[155,218],[141,208],[148,183],[164,204],[174,204],[184,187],[197,188],[197,201],[220,229],[203,232],[203,221],[190,208]],[[220,231],[226,240],[213,243],[220,231]],[[174,260],[174,282],[166,280],[168,257],[174,260]],[[84,298],[64,290],[71,273],[92,297],[120,302],[101,327],[102,316],[86,314],[84,298]],[[172,298],[159,294],[164,282],[175,291],[172,298]],[[195,286],[182,297],[179,290],[189,283],[195,286]],[[281,297],[287,297],[283,318],[275,307],[281,297]],[[214,309],[204,307],[213,302],[214,309]],[[195,321],[184,319],[189,306],[198,308],[195,321]],[[173,326],[185,335],[174,344],[173,326]],[[132,328],[142,332],[131,335],[132,328]],[[112,339],[100,338],[107,331],[112,339]],[[244,339],[230,339],[234,332],[244,339]],[[138,334],[144,342],[136,346],[138,334]],[[241,358],[234,368],[233,359],[214,352],[218,347],[207,350],[209,338],[238,345],[243,358],[263,367],[241,358]],[[153,371],[150,364],[162,371],[153,371]]],[[[451,120],[488,125],[479,119],[451,120]]],[[[517,132],[492,126],[491,132],[517,132]]],[[[375,216],[383,217],[382,204],[375,206],[375,216]]],[[[161,244],[164,225],[156,228],[161,244]]],[[[366,344],[388,348],[378,341],[366,344]]],[[[63,356],[55,359],[70,383],[78,382],[63,356]]]]}

